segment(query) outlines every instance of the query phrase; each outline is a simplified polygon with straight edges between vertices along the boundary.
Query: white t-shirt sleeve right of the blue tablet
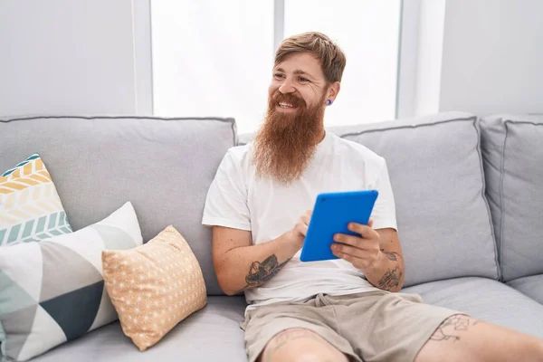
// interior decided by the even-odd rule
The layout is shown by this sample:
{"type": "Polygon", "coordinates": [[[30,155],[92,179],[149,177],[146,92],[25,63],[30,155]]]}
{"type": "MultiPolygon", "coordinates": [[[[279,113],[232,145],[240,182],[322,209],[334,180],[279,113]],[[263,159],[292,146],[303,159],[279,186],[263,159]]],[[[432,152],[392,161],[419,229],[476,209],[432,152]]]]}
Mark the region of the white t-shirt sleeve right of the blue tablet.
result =
{"type": "Polygon", "coordinates": [[[376,178],[375,184],[370,187],[375,188],[379,192],[376,205],[374,205],[370,216],[373,219],[372,227],[374,229],[393,228],[397,231],[394,193],[390,185],[385,160],[383,160],[383,166],[381,167],[379,176],[376,178]]]}

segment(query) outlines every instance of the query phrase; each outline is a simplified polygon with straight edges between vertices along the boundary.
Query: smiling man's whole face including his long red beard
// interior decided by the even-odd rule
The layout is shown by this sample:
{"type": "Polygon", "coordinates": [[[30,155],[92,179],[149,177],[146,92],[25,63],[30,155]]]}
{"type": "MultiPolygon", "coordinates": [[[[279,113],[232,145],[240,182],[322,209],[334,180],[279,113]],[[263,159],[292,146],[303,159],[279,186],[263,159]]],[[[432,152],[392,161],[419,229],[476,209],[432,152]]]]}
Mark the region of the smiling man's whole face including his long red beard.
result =
{"type": "Polygon", "coordinates": [[[301,176],[324,135],[327,91],[336,91],[332,88],[319,61],[307,53],[292,54],[273,69],[268,112],[254,139],[259,175],[284,184],[301,176]]]}

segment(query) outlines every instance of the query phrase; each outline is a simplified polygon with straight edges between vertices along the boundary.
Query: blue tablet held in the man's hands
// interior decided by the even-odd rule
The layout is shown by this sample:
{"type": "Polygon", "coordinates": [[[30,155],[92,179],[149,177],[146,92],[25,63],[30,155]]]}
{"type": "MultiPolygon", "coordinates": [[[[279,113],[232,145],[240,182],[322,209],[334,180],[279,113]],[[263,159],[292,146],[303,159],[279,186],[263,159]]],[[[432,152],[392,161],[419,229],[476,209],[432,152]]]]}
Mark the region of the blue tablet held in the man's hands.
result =
{"type": "Polygon", "coordinates": [[[301,249],[300,261],[338,259],[330,249],[336,233],[359,235],[348,230],[348,223],[367,224],[376,203],[376,190],[319,194],[301,249]]]}

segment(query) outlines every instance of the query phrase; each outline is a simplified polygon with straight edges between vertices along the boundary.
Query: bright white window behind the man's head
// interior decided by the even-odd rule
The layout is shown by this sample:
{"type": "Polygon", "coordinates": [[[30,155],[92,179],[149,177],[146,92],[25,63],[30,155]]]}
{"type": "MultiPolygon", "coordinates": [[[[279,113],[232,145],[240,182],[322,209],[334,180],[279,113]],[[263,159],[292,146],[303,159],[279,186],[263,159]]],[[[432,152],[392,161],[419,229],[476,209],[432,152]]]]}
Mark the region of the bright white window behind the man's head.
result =
{"type": "MultiPolygon", "coordinates": [[[[233,117],[240,133],[264,117],[275,53],[273,0],[151,2],[154,113],[233,117]]],[[[401,0],[284,0],[283,35],[316,30],[347,54],[326,126],[395,118],[401,0]]],[[[277,20],[277,18],[276,18],[277,20]]]]}

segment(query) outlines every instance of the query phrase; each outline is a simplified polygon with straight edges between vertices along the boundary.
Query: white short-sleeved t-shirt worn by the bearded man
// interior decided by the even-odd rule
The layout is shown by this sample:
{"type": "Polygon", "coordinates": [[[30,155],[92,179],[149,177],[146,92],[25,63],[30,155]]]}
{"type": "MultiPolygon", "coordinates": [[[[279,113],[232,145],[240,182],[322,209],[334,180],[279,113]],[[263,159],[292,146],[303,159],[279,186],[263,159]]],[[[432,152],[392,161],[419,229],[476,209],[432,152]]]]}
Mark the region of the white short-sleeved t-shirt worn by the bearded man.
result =
{"type": "MultiPolygon", "coordinates": [[[[327,132],[299,180],[283,186],[257,178],[252,143],[230,148],[221,162],[205,201],[202,224],[252,233],[252,243],[269,242],[292,229],[323,192],[376,189],[373,228],[394,228],[395,201],[386,161],[373,151],[327,132]]],[[[261,287],[245,291],[255,306],[303,301],[325,293],[343,295],[377,291],[349,262],[300,262],[300,252],[261,287]]]]}

